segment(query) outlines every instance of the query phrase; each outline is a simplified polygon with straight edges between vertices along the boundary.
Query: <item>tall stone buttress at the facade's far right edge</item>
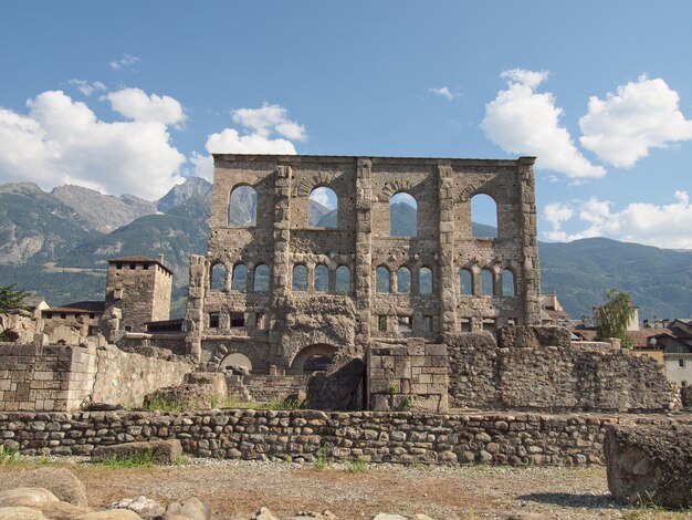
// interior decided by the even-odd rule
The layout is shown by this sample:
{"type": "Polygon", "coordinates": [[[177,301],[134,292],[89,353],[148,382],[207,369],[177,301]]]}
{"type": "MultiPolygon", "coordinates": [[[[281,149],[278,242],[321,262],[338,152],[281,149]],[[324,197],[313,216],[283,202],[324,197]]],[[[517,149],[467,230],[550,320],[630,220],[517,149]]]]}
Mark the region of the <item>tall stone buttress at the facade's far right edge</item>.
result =
{"type": "Polygon", "coordinates": [[[538,231],[536,226],[536,195],[534,179],[535,157],[517,159],[521,196],[520,232],[523,251],[524,325],[541,325],[541,270],[538,266],[538,231]]]}

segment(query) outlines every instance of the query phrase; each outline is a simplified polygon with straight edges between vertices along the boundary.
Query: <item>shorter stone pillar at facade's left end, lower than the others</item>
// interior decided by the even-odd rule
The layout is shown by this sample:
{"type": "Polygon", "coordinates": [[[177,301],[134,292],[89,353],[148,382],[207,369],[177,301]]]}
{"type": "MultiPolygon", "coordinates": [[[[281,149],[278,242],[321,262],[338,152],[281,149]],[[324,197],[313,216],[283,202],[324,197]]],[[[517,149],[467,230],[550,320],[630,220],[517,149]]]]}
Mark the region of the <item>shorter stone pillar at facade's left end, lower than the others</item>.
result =
{"type": "Polygon", "coordinates": [[[209,262],[200,254],[190,256],[190,285],[185,311],[188,354],[196,363],[201,362],[202,333],[205,329],[205,294],[209,278],[209,262]]]}

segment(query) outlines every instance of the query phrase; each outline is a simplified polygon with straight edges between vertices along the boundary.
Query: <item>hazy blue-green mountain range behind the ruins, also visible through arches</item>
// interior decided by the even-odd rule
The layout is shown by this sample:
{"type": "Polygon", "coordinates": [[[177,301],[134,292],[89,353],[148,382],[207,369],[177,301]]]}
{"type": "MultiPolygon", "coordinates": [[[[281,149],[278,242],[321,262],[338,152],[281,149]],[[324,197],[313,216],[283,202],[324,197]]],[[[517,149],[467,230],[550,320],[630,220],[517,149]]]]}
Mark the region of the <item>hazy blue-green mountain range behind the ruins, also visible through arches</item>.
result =
{"type": "MultiPolygon", "coordinates": [[[[250,197],[232,218],[247,219],[250,197]]],[[[32,183],[0,185],[0,285],[35,291],[52,305],[101,299],[107,260],[164,253],[175,274],[174,314],[185,305],[188,259],[203,254],[211,185],[192,177],[156,201],[80,186],[48,193],[32,183]]],[[[412,231],[415,210],[397,205],[397,235],[412,231]]],[[[311,201],[311,225],[334,227],[336,211],[311,201]]],[[[495,229],[474,223],[478,236],[495,229]]],[[[641,318],[692,316],[692,254],[605,238],[539,243],[544,292],[573,316],[591,315],[607,289],[628,292],[641,318]]]]}

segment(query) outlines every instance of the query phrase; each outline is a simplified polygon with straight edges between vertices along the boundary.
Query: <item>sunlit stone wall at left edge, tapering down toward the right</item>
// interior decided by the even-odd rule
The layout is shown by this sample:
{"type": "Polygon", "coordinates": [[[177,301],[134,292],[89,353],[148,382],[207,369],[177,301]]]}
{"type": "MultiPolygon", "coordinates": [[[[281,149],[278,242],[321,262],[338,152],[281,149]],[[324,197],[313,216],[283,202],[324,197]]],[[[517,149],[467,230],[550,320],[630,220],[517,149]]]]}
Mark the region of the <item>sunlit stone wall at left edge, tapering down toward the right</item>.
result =
{"type": "Polygon", "coordinates": [[[141,405],[157,388],[177,385],[193,366],[133,354],[114,345],[49,345],[45,334],[32,344],[0,344],[0,410],[66,412],[85,401],[141,405]]]}

